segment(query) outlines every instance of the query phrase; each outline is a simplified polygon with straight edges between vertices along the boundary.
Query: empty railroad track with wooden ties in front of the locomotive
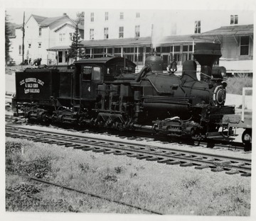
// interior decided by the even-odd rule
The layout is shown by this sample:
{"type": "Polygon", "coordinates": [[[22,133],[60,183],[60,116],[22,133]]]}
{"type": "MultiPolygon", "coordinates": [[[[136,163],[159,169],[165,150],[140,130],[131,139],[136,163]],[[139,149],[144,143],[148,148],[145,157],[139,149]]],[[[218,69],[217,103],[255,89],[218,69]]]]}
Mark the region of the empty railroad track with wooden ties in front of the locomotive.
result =
{"type": "Polygon", "coordinates": [[[127,141],[113,141],[92,138],[85,135],[72,135],[67,132],[46,132],[40,129],[28,129],[17,125],[6,125],[6,136],[33,142],[63,145],[83,151],[103,152],[104,154],[126,155],[147,161],[180,166],[194,166],[195,169],[210,168],[211,171],[225,171],[226,174],[251,176],[251,159],[225,157],[218,154],[192,152],[171,147],[134,144],[127,141]]]}

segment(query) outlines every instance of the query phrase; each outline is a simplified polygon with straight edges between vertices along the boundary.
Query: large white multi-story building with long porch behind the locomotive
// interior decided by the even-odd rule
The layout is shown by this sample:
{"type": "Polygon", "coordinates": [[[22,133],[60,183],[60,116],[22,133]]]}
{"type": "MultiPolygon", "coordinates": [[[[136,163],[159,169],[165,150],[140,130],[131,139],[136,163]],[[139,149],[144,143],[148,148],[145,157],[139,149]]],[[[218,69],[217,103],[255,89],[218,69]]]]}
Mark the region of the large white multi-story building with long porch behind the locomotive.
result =
{"type": "MultiPolygon", "coordinates": [[[[89,57],[102,57],[107,54],[125,56],[142,66],[151,48],[154,48],[163,58],[164,67],[173,59],[176,59],[181,66],[184,60],[193,58],[195,42],[216,42],[222,38],[221,33],[217,39],[207,38],[203,33],[222,26],[240,26],[242,31],[242,27],[252,24],[253,11],[87,9],[85,10],[85,41],[82,43],[89,57]]],[[[251,27],[250,56],[248,57],[238,57],[241,33],[235,39],[234,33],[229,32],[225,40],[218,41],[222,47],[222,61],[243,60],[242,66],[236,65],[240,67],[240,71],[245,71],[245,67],[249,67],[249,71],[252,72],[253,26],[251,27]],[[233,41],[236,42],[235,45],[233,41]]],[[[233,64],[228,64],[228,69],[230,65],[233,64]]]]}

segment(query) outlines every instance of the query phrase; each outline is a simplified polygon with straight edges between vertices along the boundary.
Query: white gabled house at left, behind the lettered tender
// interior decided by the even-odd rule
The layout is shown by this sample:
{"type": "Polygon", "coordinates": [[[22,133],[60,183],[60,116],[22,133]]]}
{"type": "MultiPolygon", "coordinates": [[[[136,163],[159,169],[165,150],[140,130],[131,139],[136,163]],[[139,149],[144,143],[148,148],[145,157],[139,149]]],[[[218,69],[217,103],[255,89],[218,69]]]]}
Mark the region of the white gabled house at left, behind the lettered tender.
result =
{"type": "MultiPolygon", "coordinates": [[[[24,61],[29,63],[41,58],[41,64],[66,64],[65,55],[72,43],[75,26],[75,21],[66,13],[54,18],[31,15],[24,26],[24,61]]],[[[83,27],[79,29],[83,38],[83,27]]],[[[18,26],[16,38],[11,38],[10,52],[16,64],[22,62],[22,41],[22,26],[18,26]]]]}

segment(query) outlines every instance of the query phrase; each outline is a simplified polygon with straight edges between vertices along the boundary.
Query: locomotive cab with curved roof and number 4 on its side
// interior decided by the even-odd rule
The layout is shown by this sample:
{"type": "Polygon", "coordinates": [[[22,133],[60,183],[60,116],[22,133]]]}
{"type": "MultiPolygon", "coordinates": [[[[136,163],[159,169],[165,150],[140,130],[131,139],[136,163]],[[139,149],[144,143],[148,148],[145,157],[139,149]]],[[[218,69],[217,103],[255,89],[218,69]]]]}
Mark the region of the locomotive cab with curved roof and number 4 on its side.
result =
{"type": "Polygon", "coordinates": [[[99,57],[75,62],[73,99],[75,103],[95,102],[98,86],[114,81],[120,74],[134,73],[136,64],[123,57],[99,57]]]}

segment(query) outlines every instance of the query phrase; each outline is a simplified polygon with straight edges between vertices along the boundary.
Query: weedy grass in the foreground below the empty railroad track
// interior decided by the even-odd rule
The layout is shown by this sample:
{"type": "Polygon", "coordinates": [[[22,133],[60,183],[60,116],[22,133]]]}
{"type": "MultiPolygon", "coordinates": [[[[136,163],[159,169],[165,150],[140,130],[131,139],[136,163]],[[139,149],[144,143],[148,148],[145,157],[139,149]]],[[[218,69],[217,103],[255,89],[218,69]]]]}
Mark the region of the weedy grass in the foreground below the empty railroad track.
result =
{"type": "Polygon", "coordinates": [[[169,215],[250,215],[250,178],[6,138],[6,211],[148,214],[17,173],[169,215]],[[224,181],[225,180],[225,181],[224,181]]]}

